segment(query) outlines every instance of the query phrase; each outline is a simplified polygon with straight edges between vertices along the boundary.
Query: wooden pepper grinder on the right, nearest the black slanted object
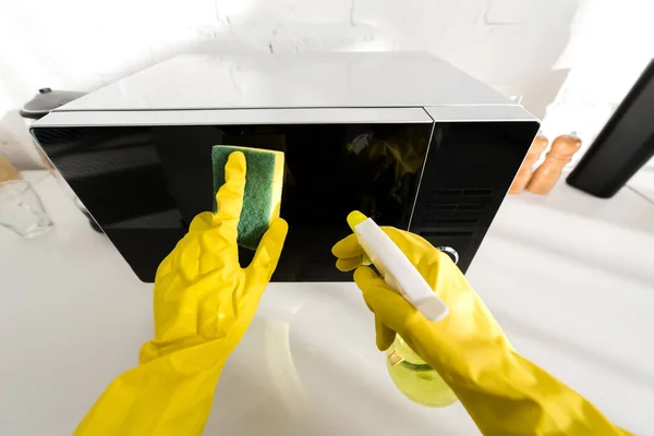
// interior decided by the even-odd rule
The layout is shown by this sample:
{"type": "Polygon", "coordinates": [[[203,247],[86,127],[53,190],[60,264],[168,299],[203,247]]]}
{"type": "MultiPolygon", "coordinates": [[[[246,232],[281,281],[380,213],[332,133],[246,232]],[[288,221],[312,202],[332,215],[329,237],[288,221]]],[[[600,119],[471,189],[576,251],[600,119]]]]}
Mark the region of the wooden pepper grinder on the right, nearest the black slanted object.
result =
{"type": "Polygon", "coordinates": [[[526,190],[540,195],[549,193],[561,177],[564,167],[572,159],[572,155],[579,147],[581,147],[581,140],[574,133],[560,135],[554,140],[552,149],[547,153],[543,165],[534,171],[526,190]]]}

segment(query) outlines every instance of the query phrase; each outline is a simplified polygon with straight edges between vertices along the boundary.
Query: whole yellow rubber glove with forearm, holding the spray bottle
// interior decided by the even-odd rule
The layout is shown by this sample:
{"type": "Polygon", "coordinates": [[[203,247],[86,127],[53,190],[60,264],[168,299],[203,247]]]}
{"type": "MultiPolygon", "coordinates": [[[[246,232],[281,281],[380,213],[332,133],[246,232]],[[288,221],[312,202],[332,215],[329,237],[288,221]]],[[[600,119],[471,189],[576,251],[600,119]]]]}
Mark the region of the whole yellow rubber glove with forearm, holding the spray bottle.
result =
{"type": "Polygon", "coordinates": [[[626,435],[579,393],[519,355],[450,257],[423,238],[383,228],[432,289],[449,305],[438,323],[427,320],[377,274],[360,266],[355,235],[332,253],[342,270],[358,268],[354,281],[375,314],[377,347],[396,332],[457,393],[486,435],[626,435]]]}

